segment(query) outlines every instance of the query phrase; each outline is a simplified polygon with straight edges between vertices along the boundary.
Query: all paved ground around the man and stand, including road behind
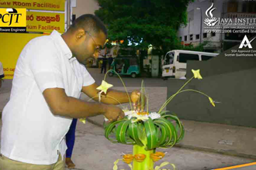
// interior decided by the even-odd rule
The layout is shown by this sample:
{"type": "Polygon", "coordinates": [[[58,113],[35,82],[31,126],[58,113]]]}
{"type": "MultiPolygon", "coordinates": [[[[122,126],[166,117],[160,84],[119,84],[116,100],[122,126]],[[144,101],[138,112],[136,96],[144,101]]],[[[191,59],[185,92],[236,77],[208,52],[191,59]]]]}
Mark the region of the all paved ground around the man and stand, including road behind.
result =
{"type": "MultiPolygon", "coordinates": [[[[90,69],[96,82],[101,83],[103,74],[99,69],[90,69]]],[[[117,77],[108,77],[117,90],[123,90],[117,77]]],[[[128,90],[138,89],[141,78],[123,78],[128,90]]],[[[150,110],[157,110],[166,100],[166,81],[159,78],[145,78],[149,93],[150,110]]],[[[0,112],[9,100],[11,81],[5,81],[0,90],[0,112]]],[[[82,100],[88,100],[85,95],[82,100]]],[[[123,107],[128,107],[125,105],[123,107]]],[[[131,153],[132,146],[112,144],[104,137],[103,117],[90,117],[86,124],[78,123],[73,159],[80,170],[112,169],[113,162],[121,158],[122,153],[131,153]]],[[[168,148],[164,161],[174,163],[179,170],[206,170],[256,162],[256,129],[209,124],[182,120],[185,126],[184,140],[174,148],[168,148]]],[[[1,126],[2,127],[2,126],[1,126]]],[[[158,149],[161,151],[162,149],[158,149]]],[[[161,163],[161,162],[160,162],[161,163]]],[[[156,165],[159,165],[157,163],[156,165]]],[[[130,169],[119,162],[119,169],[130,169]]],[[[237,170],[256,169],[256,166],[237,168],[237,170]]]]}

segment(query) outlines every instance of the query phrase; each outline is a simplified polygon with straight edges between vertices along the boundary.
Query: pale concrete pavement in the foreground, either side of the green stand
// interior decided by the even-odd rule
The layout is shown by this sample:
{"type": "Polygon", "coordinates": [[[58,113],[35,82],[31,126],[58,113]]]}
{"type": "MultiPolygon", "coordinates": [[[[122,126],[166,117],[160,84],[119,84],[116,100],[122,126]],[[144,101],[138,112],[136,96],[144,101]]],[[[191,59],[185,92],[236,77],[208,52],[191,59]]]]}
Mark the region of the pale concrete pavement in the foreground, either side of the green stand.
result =
{"type": "MultiPolygon", "coordinates": [[[[112,144],[104,137],[104,129],[89,121],[86,124],[78,122],[75,142],[72,159],[76,164],[75,169],[77,170],[112,170],[113,162],[116,159],[122,158],[123,153],[132,154],[133,151],[133,146],[131,145],[112,144]]],[[[210,170],[255,162],[251,158],[178,147],[157,148],[157,151],[168,153],[163,160],[155,163],[155,166],[160,165],[162,162],[170,162],[175,164],[176,170],[210,170]]],[[[171,167],[165,168],[172,169],[171,167]]],[[[119,162],[118,169],[130,170],[124,162],[119,162]]],[[[236,170],[247,169],[255,170],[256,166],[238,168],[236,170]]]]}

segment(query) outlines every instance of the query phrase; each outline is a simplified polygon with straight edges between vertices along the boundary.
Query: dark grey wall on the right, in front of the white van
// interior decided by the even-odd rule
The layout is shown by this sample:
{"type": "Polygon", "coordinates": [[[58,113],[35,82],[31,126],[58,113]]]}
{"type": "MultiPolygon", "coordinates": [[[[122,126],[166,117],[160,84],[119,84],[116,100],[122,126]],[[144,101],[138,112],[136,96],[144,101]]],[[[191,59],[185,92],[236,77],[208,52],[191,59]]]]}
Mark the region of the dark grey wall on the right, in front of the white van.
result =
{"type": "MultiPolygon", "coordinates": [[[[254,47],[256,41],[251,43],[254,47]]],[[[235,46],[232,49],[238,49],[235,46]]],[[[230,53],[227,50],[224,53],[230,53]]],[[[192,80],[186,88],[208,94],[221,102],[213,107],[207,97],[199,93],[178,94],[167,110],[173,111],[181,119],[232,124],[256,128],[256,57],[225,57],[224,53],[204,62],[189,62],[188,77],[193,69],[200,69],[202,80],[192,80]]],[[[168,80],[168,97],[175,93],[185,80],[168,80]]]]}

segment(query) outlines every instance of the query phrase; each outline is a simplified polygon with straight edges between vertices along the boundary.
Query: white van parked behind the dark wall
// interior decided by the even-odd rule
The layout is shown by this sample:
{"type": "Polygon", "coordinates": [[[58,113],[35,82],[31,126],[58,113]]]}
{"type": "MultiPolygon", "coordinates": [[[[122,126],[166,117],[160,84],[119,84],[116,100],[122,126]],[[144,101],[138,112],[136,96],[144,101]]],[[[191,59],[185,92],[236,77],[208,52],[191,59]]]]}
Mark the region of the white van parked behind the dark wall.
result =
{"type": "Polygon", "coordinates": [[[186,75],[187,60],[204,61],[218,56],[219,53],[205,53],[189,50],[172,50],[166,53],[162,63],[162,78],[181,78],[186,75]]]}

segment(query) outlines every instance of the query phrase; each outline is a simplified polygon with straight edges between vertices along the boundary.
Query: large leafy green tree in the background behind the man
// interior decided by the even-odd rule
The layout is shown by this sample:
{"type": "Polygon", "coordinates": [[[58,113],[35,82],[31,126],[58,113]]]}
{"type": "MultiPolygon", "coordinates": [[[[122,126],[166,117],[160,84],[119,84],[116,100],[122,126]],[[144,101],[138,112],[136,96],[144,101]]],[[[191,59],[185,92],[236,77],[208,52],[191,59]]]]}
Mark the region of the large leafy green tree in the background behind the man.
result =
{"type": "Polygon", "coordinates": [[[187,23],[187,5],[192,0],[97,0],[95,12],[109,29],[109,40],[124,40],[135,49],[151,44],[161,51],[175,49],[179,26],[187,23]]]}

